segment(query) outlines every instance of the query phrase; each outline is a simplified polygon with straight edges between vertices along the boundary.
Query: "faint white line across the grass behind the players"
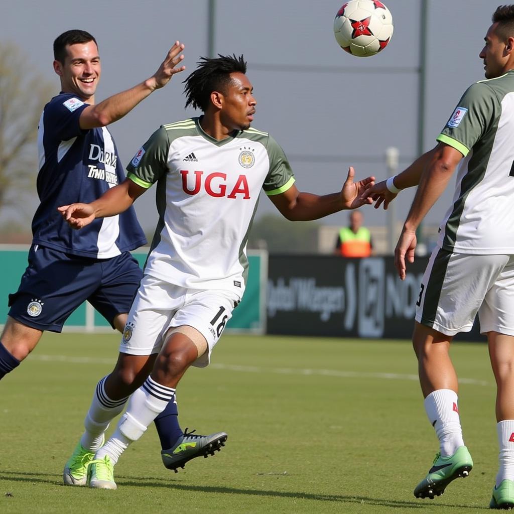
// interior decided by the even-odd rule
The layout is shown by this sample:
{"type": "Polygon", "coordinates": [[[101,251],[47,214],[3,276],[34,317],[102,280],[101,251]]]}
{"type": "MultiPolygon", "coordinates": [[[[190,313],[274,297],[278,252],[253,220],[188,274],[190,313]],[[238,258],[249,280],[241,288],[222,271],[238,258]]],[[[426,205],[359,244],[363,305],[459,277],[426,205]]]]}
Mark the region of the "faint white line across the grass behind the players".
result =
{"type": "MultiPolygon", "coordinates": [[[[116,359],[101,359],[98,357],[69,357],[67,355],[30,355],[32,360],[41,360],[44,362],[71,362],[74,364],[113,364],[116,359]]],[[[409,380],[417,382],[417,375],[401,374],[401,373],[363,373],[356,371],[339,371],[339,370],[309,370],[298,368],[261,368],[259,366],[238,366],[232,364],[210,364],[210,369],[222,371],[236,371],[241,373],[275,373],[279,375],[302,375],[302,376],[324,376],[324,377],[340,377],[340,378],[378,378],[386,380],[409,380]]],[[[460,383],[471,384],[472,386],[489,386],[486,380],[475,380],[474,378],[460,378],[460,383]]]]}

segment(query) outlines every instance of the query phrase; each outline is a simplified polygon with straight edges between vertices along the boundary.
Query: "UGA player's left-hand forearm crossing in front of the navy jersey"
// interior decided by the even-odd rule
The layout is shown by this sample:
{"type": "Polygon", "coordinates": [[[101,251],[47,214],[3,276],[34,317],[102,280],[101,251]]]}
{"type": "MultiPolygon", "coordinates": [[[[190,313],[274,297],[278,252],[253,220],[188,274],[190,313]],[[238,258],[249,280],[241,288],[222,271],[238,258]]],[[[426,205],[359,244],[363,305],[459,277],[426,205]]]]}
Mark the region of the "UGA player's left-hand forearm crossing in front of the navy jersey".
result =
{"type": "Polygon", "coordinates": [[[63,205],[57,210],[71,228],[80,229],[89,225],[95,218],[115,216],[126,211],[145,191],[145,188],[126,178],[90,204],[63,205]]]}

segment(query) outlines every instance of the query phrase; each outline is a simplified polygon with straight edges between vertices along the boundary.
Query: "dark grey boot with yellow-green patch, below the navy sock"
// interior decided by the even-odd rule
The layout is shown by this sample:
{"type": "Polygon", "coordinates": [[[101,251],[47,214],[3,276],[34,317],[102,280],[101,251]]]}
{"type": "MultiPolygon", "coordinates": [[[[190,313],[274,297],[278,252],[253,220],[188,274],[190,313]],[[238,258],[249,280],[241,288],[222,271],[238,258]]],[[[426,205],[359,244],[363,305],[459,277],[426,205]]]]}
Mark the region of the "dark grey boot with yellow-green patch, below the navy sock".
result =
{"type": "Polygon", "coordinates": [[[186,429],[184,434],[178,438],[175,446],[161,451],[162,463],[168,469],[173,469],[175,473],[178,473],[178,468],[183,468],[192,458],[214,455],[215,451],[219,451],[222,446],[225,446],[228,437],[225,432],[211,435],[199,435],[193,432],[194,430],[188,432],[186,429]]]}

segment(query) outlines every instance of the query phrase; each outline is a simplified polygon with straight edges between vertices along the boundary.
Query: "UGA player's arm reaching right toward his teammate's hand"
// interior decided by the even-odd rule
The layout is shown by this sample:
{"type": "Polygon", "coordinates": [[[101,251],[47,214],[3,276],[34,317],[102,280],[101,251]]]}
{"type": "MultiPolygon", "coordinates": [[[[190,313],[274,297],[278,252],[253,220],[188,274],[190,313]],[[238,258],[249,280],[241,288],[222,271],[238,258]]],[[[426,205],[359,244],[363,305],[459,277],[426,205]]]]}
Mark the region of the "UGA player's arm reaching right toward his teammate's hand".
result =
{"type": "Polygon", "coordinates": [[[302,193],[296,186],[284,193],[270,196],[270,200],[281,214],[290,221],[310,221],[343,209],[356,209],[365,204],[373,203],[371,198],[363,195],[364,191],[373,186],[375,177],[368,177],[354,182],[355,170],[350,167],[343,188],[339,193],[319,196],[302,193]]]}

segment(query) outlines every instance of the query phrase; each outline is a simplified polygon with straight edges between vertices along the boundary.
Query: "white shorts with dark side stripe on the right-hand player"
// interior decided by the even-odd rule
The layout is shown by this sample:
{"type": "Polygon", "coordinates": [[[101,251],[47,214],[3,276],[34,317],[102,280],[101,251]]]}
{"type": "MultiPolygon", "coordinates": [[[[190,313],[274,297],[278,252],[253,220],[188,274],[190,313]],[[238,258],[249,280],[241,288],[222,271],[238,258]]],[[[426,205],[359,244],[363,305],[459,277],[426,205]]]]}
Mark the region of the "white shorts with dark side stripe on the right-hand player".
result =
{"type": "Polygon", "coordinates": [[[480,331],[514,336],[514,255],[471,255],[435,248],[421,281],[416,321],[447,336],[480,331]]]}

